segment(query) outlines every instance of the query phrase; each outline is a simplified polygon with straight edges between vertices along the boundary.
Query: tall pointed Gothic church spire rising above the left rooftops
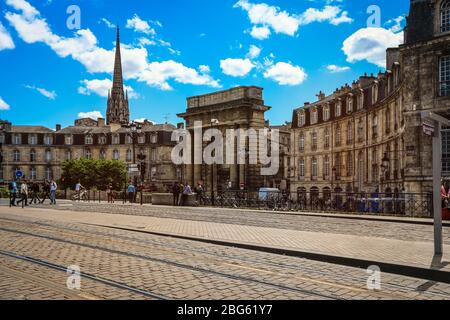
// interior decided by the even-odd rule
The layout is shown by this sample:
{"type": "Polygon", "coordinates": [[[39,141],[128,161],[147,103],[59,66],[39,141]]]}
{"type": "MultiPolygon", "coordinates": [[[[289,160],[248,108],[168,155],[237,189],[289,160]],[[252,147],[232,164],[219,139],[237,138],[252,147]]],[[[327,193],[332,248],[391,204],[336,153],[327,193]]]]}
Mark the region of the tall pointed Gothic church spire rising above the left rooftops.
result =
{"type": "Polygon", "coordinates": [[[120,53],[120,30],[117,27],[116,52],[114,60],[113,86],[108,95],[108,107],[106,110],[107,124],[128,124],[130,112],[128,99],[125,98],[122,75],[122,56],[120,53]]]}

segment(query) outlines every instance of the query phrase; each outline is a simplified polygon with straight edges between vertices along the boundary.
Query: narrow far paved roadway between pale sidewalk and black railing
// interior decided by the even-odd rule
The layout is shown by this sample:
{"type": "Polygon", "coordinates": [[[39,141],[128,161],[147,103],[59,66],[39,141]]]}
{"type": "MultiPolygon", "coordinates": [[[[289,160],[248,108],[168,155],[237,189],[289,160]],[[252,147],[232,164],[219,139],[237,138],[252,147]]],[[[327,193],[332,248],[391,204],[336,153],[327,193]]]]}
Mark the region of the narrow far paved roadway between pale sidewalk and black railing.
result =
{"type": "MultiPolygon", "coordinates": [[[[383,221],[351,220],[334,217],[286,215],[260,211],[153,207],[139,205],[108,205],[70,203],[59,209],[111,214],[127,214],[194,221],[208,221],[236,225],[269,227],[321,233],[348,234],[405,241],[433,241],[433,226],[383,221]]],[[[444,243],[450,245],[450,227],[443,229],[444,243]]]]}

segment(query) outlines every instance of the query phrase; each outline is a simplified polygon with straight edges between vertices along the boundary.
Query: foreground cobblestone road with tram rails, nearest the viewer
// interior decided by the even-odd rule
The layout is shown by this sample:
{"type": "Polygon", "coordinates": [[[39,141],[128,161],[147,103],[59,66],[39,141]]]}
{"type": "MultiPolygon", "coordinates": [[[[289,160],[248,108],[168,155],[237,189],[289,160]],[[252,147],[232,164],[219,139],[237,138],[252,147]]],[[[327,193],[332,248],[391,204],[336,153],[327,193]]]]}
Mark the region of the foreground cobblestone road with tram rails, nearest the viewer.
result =
{"type": "Polygon", "coordinates": [[[11,217],[0,208],[0,299],[450,299],[450,285],[293,257],[11,217]],[[82,272],[68,290],[66,268],[82,272]]]}

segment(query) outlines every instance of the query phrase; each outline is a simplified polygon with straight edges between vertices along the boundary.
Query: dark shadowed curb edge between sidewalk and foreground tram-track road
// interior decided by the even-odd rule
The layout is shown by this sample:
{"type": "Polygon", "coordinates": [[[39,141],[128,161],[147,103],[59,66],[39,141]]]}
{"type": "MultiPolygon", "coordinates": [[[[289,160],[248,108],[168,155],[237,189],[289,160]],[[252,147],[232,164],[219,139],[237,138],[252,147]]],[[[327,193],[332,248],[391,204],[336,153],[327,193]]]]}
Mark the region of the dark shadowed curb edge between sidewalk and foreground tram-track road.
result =
{"type": "Polygon", "coordinates": [[[246,250],[251,250],[251,251],[265,252],[265,253],[271,253],[271,254],[288,256],[288,257],[304,258],[304,259],[308,259],[308,260],[338,264],[338,265],[361,268],[361,269],[367,269],[370,266],[376,265],[382,270],[382,272],[385,272],[385,273],[397,274],[397,275],[401,275],[401,276],[407,276],[407,277],[418,278],[418,279],[423,279],[423,280],[428,280],[428,281],[436,281],[436,282],[450,284],[450,272],[441,271],[438,269],[428,269],[428,268],[422,268],[422,267],[414,267],[414,266],[408,266],[408,265],[371,261],[371,260],[349,258],[349,257],[338,257],[338,256],[333,256],[333,255],[321,254],[321,253],[298,251],[298,250],[291,250],[291,249],[282,249],[282,248],[247,244],[247,243],[212,240],[212,239],[182,236],[182,235],[176,235],[176,234],[165,234],[165,233],[160,233],[160,232],[144,231],[144,230],[137,230],[137,229],[131,229],[131,228],[112,227],[112,226],[97,225],[97,224],[86,224],[86,225],[104,227],[104,228],[115,229],[115,230],[123,230],[123,231],[151,234],[151,235],[155,235],[155,236],[169,237],[169,238],[180,239],[180,240],[196,241],[196,242],[201,242],[201,243],[208,243],[208,244],[214,244],[214,245],[225,246],[225,247],[233,247],[233,248],[246,249],[246,250]]]}

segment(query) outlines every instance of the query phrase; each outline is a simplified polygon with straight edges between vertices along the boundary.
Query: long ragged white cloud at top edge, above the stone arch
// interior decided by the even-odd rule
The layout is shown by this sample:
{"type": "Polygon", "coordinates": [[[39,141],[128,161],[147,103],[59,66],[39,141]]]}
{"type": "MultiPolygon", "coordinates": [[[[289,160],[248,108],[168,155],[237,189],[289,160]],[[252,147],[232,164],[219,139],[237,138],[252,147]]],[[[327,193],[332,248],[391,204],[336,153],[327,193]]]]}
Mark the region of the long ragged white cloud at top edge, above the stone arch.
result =
{"type": "Polygon", "coordinates": [[[258,40],[267,39],[271,30],[275,33],[295,36],[301,25],[313,22],[328,22],[333,25],[353,22],[347,11],[332,5],[326,5],[322,10],[309,8],[301,14],[291,14],[276,6],[251,3],[248,0],[239,0],[234,8],[241,8],[247,12],[253,25],[250,35],[258,40]]]}

